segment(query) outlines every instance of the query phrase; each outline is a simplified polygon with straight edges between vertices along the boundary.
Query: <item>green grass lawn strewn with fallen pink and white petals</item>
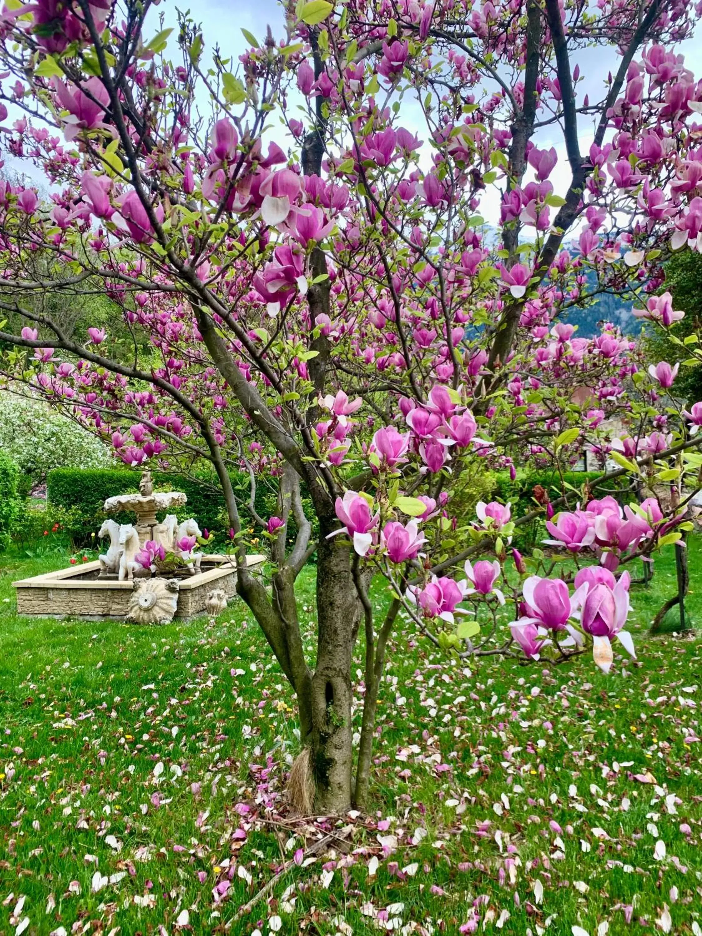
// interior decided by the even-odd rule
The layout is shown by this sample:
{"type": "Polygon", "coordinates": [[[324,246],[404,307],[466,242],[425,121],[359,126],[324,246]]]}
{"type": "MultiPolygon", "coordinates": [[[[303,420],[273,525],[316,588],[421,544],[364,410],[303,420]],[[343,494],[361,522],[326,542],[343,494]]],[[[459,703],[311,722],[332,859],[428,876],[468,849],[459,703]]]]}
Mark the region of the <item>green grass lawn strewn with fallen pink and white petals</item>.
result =
{"type": "MultiPolygon", "coordinates": [[[[699,539],[690,561],[702,623],[699,539]]],[[[326,826],[285,816],[293,700],[241,602],[216,624],[18,618],[10,582],[63,564],[0,556],[0,933],[702,931],[702,647],[645,635],[672,554],[608,677],[459,664],[403,625],[372,813],[326,826]]],[[[314,569],[303,587],[312,645],[314,569]]]]}

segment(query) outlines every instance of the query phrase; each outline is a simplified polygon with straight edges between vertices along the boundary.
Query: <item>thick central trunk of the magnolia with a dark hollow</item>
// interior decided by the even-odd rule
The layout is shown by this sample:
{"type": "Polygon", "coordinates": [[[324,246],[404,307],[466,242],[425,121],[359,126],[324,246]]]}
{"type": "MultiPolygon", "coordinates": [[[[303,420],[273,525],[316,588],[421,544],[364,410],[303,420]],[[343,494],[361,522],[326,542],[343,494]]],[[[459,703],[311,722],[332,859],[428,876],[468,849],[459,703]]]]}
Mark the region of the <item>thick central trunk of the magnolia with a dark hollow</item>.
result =
{"type": "Polygon", "coordinates": [[[351,807],[351,658],[358,597],[349,549],[320,531],[317,553],[317,660],[310,687],[314,809],[320,814],[351,807]]]}

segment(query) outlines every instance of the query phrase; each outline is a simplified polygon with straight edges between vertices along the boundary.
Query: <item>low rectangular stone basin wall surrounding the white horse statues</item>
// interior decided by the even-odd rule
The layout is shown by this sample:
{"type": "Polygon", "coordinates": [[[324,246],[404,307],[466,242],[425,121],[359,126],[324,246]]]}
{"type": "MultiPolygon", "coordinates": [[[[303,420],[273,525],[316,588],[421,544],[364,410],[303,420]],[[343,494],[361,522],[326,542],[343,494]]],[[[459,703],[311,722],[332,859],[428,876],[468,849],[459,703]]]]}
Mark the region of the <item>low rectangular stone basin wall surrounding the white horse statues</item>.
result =
{"type": "MultiPolygon", "coordinates": [[[[260,565],[264,559],[260,555],[247,556],[247,567],[260,565]]],[[[180,578],[175,612],[179,621],[202,614],[212,589],[222,589],[229,597],[236,592],[237,567],[229,556],[203,555],[200,568],[196,575],[180,578]]],[[[97,578],[99,572],[99,562],[83,563],[12,582],[17,590],[17,613],[33,618],[70,617],[84,621],[124,618],[132,582],[97,578]]]]}

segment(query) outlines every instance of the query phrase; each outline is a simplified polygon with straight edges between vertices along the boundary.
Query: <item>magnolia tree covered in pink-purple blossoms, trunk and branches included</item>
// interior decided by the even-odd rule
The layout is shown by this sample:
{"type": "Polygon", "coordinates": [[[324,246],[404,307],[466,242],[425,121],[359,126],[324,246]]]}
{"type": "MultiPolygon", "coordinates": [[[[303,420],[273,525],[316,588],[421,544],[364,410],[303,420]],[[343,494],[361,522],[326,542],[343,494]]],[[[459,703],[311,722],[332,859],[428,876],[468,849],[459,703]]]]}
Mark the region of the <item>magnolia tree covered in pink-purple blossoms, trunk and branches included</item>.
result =
{"type": "Polygon", "coordinates": [[[610,638],[634,653],[626,563],[689,528],[702,403],[672,395],[678,362],[648,373],[613,326],[584,339],[563,318],[602,291],[661,329],[680,315],[655,294],[669,252],[702,246],[702,84],[674,49],[700,10],[301,0],[234,62],[151,7],[2,14],[5,149],[51,192],[0,183],[5,379],[71,407],[127,464],[212,462],[238,592],[298,697],[301,787],[318,812],[363,808],[401,612],[453,654],[590,647],[607,670],[610,638]],[[578,66],[592,47],[612,64],[596,95],[578,66]],[[113,323],[80,344],[46,290],[107,294],[113,323]],[[616,498],[563,480],[588,447],[616,498]],[[527,516],[465,515],[476,465],[529,463],[557,490],[527,516]],[[270,590],[246,568],[235,465],[270,590]],[[256,513],[262,479],[273,517],[256,513]],[[569,575],[509,555],[542,514],[569,575]],[[314,553],[313,665],[295,583],[314,553]],[[374,576],[391,592],[380,620],[374,576]]]}

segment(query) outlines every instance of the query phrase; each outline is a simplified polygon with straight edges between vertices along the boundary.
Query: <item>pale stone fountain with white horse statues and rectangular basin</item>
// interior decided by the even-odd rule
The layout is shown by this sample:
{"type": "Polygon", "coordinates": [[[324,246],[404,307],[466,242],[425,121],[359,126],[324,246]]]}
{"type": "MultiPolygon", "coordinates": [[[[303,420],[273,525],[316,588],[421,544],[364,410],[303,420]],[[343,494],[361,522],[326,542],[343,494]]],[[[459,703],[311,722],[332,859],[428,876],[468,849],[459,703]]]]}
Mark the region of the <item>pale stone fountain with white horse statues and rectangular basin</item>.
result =
{"type": "MultiPolygon", "coordinates": [[[[118,494],[105,501],[107,513],[131,512],[137,515],[136,524],[107,519],[99,535],[110,535],[110,548],[99,560],[13,582],[18,614],[164,623],[173,616],[188,620],[204,611],[219,613],[236,592],[234,558],[179,551],[179,538],[199,535],[197,522],[190,519],[178,525],[174,514],[162,521],[156,516],[186,503],[183,491],[154,491],[151,472],[144,472],[139,494],[118,494]],[[159,544],[167,553],[175,554],[181,561],[181,572],[149,578],[150,572],[134,561],[147,543],[159,544]]],[[[264,559],[260,555],[247,556],[246,565],[259,565],[264,559]]]]}

